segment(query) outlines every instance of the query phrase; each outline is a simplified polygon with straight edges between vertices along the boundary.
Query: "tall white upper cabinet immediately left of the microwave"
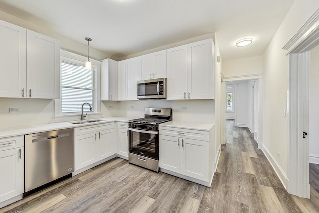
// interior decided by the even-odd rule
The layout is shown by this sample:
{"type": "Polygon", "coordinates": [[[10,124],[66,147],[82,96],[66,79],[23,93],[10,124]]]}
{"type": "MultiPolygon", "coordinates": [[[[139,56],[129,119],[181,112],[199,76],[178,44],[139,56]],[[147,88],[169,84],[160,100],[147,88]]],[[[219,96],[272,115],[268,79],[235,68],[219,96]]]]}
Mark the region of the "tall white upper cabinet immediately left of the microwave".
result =
{"type": "Polygon", "coordinates": [[[118,62],[118,100],[137,100],[137,81],[139,74],[138,58],[118,62]]]}

